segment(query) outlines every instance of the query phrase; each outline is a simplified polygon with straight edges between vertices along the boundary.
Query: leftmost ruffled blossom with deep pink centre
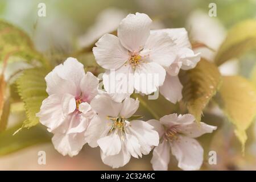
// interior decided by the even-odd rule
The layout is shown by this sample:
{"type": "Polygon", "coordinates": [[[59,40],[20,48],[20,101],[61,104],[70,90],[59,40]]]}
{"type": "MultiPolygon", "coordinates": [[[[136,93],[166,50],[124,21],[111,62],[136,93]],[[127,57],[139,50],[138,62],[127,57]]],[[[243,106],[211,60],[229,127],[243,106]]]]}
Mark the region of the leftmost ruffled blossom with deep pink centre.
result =
{"type": "Polygon", "coordinates": [[[98,78],[69,57],[46,76],[47,93],[40,112],[40,123],[53,133],[52,143],[62,155],[77,155],[86,143],[84,134],[96,115],[90,101],[98,94],[98,78]]]}

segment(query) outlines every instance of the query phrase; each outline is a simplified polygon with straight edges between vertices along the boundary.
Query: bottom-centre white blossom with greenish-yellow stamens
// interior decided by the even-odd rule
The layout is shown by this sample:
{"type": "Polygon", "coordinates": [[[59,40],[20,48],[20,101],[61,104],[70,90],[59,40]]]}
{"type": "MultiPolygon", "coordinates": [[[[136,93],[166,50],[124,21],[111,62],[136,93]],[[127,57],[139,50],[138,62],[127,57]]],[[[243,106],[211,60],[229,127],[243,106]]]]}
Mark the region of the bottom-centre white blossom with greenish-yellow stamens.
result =
{"type": "Polygon", "coordinates": [[[159,135],[154,127],[141,120],[128,121],[139,107],[139,101],[126,98],[114,102],[108,94],[96,96],[90,103],[98,113],[85,134],[91,147],[100,146],[102,161],[113,168],[125,166],[134,158],[147,155],[158,146],[159,135]]]}

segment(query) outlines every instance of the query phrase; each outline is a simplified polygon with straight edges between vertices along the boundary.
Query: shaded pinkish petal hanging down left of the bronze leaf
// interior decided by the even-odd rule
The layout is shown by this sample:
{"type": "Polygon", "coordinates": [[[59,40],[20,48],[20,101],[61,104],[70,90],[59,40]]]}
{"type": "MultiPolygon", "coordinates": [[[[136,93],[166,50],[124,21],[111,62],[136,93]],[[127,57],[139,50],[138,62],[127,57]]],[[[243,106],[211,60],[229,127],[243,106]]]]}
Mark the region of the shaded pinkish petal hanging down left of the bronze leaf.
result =
{"type": "Polygon", "coordinates": [[[183,86],[178,76],[170,76],[167,74],[163,85],[159,87],[159,91],[164,98],[176,104],[176,102],[180,101],[182,98],[182,88],[183,86]]]}

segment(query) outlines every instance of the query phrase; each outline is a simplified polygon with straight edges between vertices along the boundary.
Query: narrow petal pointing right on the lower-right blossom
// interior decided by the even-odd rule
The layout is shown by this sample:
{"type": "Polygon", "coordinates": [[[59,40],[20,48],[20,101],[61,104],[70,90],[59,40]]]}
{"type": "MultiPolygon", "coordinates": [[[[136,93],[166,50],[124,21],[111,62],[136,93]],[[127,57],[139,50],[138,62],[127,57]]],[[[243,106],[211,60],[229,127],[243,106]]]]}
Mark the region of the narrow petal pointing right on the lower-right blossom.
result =
{"type": "Polygon", "coordinates": [[[206,133],[212,133],[213,130],[216,130],[217,126],[207,125],[206,123],[200,122],[200,125],[196,122],[193,122],[189,125],[180,125],[177,127],[177,130],[187,137],[197,138],[206,133]]]}

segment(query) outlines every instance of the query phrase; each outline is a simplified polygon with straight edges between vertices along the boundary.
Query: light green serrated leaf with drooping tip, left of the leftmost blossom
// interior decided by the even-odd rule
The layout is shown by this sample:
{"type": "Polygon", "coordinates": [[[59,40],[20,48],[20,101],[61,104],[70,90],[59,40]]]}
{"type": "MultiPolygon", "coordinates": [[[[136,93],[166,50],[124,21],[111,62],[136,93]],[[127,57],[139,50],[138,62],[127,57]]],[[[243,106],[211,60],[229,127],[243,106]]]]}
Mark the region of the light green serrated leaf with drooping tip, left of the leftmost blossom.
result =
{"type": "Polygon", "coordinates": [[[42,101],[48,95],[46,93],[47,71],[44,68],[32,68],[23,71],[22,76],[16,81],[18,93],[24,102],[27,119],[23,122],[23,127],[30,128],[39,123],[36,113],[39,112],[42,101]]]}

